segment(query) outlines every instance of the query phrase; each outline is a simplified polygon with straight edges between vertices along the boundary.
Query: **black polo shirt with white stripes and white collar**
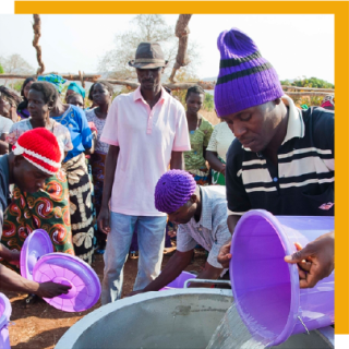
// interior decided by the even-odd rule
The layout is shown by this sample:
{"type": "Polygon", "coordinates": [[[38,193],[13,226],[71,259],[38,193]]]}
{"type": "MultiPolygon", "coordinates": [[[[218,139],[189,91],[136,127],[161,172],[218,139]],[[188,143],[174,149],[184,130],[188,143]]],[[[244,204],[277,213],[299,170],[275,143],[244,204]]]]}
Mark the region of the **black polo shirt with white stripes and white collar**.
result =
{"type": "Polygon", "coordinates": [[[300,110],[287,96],[287,133],[275,166],[262,153],[234,140],[228,151],[226,185],[229,214],[264,208],[274,215],[334,215],[334,112],[300,110]]]}

